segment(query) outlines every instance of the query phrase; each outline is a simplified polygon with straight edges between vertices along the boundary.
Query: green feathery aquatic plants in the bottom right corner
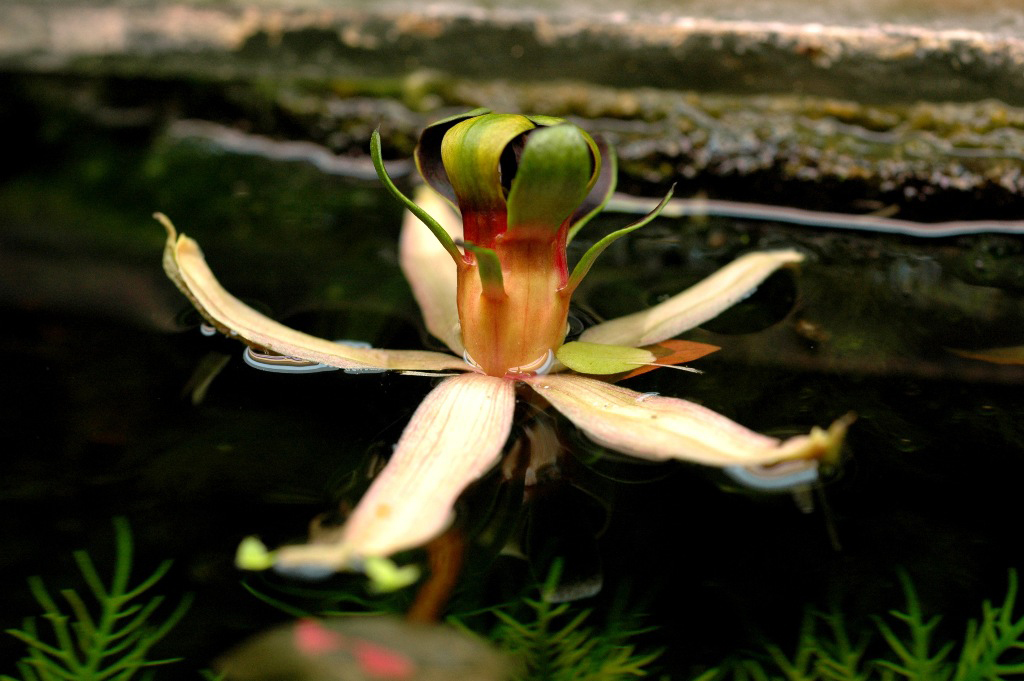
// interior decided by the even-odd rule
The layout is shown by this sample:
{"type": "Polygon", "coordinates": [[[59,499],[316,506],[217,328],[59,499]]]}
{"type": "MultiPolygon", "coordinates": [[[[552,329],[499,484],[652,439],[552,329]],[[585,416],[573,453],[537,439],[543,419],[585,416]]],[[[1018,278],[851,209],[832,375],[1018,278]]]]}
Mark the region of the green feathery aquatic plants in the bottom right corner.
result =
{"type": "Polygon", "coordinates": [[[879,643],[874,632],[851,636],[838,611],[808,611],[797,649],[787,656],[774,644],[765,646],[767,659],[749,658],[724,665],[701,681],[1009,681],[1024,678],[1024,614],[1015,615],[1017,572],[1010,571],[1000,604],[982,604],[979,620],[971,620],[963,641],[936,640],[941,616],[926,615],[910,579],[900,574],[906,605],[876,621],[881,635],[880,656],[869,650],[879,643]]]}

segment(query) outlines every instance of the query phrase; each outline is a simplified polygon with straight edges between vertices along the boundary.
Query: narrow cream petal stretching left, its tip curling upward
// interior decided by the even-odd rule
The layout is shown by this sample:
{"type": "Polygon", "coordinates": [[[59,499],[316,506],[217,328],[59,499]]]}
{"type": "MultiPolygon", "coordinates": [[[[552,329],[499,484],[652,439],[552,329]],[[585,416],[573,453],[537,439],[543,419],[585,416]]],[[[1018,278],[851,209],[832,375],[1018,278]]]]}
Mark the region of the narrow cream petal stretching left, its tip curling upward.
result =
{"type": "Polygon", "coordinates": [[[348,347],[274,322],[225,291],[206,264],[199,244],[178,236],[166,217],[157,217],[167,228],[164,270],[223,334],[280,354],[341,369],[472,370],[462,359],[441,352],[348,347]]]}

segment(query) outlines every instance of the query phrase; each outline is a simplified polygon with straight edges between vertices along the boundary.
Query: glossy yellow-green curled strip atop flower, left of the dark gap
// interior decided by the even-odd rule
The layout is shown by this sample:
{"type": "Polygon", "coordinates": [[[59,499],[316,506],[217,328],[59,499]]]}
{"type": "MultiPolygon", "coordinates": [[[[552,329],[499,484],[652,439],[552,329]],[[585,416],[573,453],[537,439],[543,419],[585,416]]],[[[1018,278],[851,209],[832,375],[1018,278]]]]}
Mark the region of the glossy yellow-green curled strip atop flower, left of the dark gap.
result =
{"type": "Polygon", "coordinates": [[[534,127],[525,116],[487,114],[457,123],[444,133],[441,160],[464,214],[505,208],[502,154],[509,142],[534,127]]]}

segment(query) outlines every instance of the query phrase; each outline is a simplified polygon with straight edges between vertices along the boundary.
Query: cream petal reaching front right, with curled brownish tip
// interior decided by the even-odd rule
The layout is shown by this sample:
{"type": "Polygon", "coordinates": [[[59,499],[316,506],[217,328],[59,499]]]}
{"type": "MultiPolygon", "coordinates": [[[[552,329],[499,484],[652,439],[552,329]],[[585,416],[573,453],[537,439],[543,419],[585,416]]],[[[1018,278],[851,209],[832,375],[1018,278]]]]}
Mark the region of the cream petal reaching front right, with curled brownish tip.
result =
{"type": "Polygon", "coordinates": [[[594,441],[655,461],[753,466],[831,460],[850,422],[841,419],[827,431],[814,428],[808,435],[779,440],[685,399],[646,395],[582,376],[536,376],[526,382],[594,441]]]}

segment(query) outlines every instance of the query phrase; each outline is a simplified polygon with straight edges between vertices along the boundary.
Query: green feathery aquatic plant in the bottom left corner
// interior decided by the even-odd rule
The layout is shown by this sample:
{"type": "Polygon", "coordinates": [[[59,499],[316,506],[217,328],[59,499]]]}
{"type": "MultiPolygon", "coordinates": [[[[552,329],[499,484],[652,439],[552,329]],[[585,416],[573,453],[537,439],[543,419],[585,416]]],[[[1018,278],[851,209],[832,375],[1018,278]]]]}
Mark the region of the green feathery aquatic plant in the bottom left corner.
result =
{"type": "MultiPolygon", "coordinates": [[[[167,573],[171,561],[162,562],[150,577],[130,586],[132,540],[128,521],[115,518],[114,530],[116,557],[110,585],[103,583],[86,551],[74,554],[95,599],[93,606],[74,589],[61,589],[60,596],[70,610],[66,612],[40,578],[29,579],[32,595],[42,606],[42,618],[53,635],[44,637],[35,618],[27,619],[22,629],[7,630],[27,647],[17,664],[22,681],[127,681],[143,669],[177,659],[146,659],[145,655],[178,623],[191,599],[182,599],[160,624],[151,623],[164,597],[152,596],[144,601],[141,597],[167,573]]],[[[0,676],[0,681],[17,680],[0,676]]]]}

